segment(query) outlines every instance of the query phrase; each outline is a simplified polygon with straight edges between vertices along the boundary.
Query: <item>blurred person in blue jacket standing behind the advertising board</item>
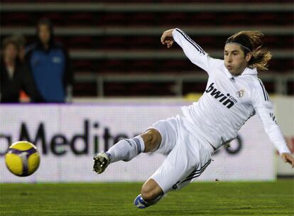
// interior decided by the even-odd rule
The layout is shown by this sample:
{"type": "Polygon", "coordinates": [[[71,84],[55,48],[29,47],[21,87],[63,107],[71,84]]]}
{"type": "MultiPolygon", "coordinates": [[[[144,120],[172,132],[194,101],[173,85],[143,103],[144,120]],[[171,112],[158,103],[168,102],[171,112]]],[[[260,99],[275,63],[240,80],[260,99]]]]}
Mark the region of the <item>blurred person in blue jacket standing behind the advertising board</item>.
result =
{"type": "Polygon", "coordinates": [[[53,24],[41,19],[36,43],[28,47],[26,62],[45,102],[70,102],[72,70],[67,51],[54,40],[53,24]]]}

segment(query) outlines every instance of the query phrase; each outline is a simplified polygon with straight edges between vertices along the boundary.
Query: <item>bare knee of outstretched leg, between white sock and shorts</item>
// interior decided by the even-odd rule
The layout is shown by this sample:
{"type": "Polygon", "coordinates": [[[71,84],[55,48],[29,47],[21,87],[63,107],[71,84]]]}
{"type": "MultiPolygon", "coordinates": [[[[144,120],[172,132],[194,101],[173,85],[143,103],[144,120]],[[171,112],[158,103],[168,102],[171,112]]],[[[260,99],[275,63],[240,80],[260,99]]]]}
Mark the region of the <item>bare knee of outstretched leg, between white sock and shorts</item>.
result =
{"type": "Polygon", "coordinates": [[[161,135],[156,129],[148,129],[141,137],[145,144],[144,152],[156,151],[161,143],[161,135]]]}

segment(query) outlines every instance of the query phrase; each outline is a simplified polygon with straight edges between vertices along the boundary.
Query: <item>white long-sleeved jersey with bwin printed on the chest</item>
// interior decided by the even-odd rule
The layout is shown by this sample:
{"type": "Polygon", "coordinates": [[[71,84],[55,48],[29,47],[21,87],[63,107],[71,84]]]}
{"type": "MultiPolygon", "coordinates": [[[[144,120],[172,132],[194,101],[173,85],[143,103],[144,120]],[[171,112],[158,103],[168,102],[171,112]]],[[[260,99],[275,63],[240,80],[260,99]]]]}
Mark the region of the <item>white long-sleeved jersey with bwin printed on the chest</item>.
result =
{"type": "Polygon", "coordinates": [[[239,76],[233,76],[225,68],[224,60],[209,57],[179,28],[173,38],[187,58],[208,75],[207,87],[198,102],[183,107],[187,129],[197,134],[214,149],[236,138],[241,126],[258,113],[264,129],[279,153],[290,153],[281,129],[273,115],[273,104],[257,70],[246,68],[239,76]]]}

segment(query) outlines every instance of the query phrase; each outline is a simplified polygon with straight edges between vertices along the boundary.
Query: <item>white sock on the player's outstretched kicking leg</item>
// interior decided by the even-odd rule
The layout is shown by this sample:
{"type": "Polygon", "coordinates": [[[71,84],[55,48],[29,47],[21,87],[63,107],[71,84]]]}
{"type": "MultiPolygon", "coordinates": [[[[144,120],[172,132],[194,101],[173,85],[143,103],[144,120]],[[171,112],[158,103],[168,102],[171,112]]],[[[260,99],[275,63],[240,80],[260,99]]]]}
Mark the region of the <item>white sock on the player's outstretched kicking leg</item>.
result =
{"type": "Polygon", "coordinates": [[[132,139],[122,139],[114,146],[109,148],[107,153],[110,154],[110,162],[116,161],[131,161],[145,148],[144,141],[141,136],[136,136],[132,139]]]}

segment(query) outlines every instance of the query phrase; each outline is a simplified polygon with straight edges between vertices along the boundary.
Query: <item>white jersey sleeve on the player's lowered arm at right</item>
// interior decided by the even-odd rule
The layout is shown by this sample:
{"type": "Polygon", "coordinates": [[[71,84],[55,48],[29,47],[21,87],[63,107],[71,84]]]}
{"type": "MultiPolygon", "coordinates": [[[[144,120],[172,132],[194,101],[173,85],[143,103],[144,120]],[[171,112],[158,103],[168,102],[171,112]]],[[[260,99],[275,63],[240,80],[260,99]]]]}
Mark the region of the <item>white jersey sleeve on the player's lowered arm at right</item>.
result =
{"type": "Polygon", "coordinates": [[[261,118],[266,134],[268,134],[273,145],[278,149],[278,152],[290,153],[282,131],[277,124],[276,117],[273,114],[273,103],[268,97],[268,93],[261,80],[258,80],[258,85],[254,92],[252,92],[252,103],[261,118]]]}

